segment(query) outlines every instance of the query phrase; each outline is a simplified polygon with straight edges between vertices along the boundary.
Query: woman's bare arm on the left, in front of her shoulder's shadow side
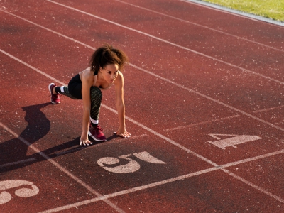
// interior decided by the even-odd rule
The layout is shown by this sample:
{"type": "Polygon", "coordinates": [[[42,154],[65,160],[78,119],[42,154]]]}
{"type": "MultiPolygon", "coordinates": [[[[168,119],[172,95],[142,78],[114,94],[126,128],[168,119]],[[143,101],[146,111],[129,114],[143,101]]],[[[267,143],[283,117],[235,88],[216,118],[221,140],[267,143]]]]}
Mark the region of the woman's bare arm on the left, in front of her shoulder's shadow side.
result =
{"type": "MultiPolygon", "coordinates": [[[[86,70],[85,70],[86,71],[86,70]]],[[[93,82],[93,75],[90,72],[83,72],[82,75],[82,98],[83,98],[83,120],[82,120],[82,135],[80,144],[89,145],[92,144],[88,138],[89,131],[89,116],[91,111],[91,95],[90,88],[93,82]]]]}

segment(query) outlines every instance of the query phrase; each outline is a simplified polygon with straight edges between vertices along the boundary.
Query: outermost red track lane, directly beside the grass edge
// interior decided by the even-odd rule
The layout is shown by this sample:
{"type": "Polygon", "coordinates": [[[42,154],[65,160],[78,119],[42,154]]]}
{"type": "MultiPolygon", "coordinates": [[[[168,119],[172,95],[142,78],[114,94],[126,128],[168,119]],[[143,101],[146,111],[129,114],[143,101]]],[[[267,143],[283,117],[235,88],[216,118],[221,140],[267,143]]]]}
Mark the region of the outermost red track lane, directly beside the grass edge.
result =
{"type": "MultiPolygon", "coordinates": [[[[165,13],[173,17],[190,21],[199,26],[204,26],[240,36],[248,40],[253,40],[257,43],[271,46],[280,50],[284,50],[282,39],[283,27],[275,26],[270,23],[264,23],[252,18],[239,16],[218,9],[202,6],[190,1],[121,1],[142,8],[165,13]],[[219,14],[222,16],[219,16],[219,14]],[[236,23],[236,18],[238,22],[236,23]]],[[[124,3],[125,4],[125,3],[124,3]]]]}

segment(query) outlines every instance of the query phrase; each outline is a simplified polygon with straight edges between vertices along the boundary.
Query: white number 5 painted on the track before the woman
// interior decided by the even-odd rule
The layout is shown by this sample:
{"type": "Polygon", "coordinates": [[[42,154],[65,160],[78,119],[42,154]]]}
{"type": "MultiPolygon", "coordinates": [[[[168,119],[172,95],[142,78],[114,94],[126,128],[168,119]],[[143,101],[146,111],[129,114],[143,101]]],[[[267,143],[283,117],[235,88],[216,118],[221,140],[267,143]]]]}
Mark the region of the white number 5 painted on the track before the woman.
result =
{"type": "MultiPolygon", "coordinates": [[[[152,155],[150,155],[150,153],[146,151],[141,152],[141,153],[133,153],[133,155],[136,158],[139,158],[140,160],[144,160],[148,163],[165,164],[165,162],[163,162],[162,160],[158,160],[157,158],[153,157],[152,155]]],[[[108,170],[111,173],[120,173],[120,174],[134,173],[140,169],[140,164],[136,160],[129,158],[130,156],[132,156],[132,154],[121,155],[118,158],[112,158],[112,157],[100,158],[97,161],[97,163],[99,164],[99,166],[102,166],[102,168],[104,168],[105,170],[108,170]],[[117,165],[116,167],[107,166],[107,165],[114,165],[114,164],[119,163],[120,161],[119,158],[128,160],[129,163],[126,163],[124,165],[117,165]]]]}

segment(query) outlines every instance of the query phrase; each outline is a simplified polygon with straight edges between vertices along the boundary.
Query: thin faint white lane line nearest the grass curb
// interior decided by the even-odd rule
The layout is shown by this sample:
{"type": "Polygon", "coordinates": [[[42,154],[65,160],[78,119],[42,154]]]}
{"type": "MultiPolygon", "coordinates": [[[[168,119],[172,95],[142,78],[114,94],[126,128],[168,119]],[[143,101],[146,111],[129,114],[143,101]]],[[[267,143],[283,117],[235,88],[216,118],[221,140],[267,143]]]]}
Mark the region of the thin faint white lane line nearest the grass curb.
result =
{"type": "Polygon", "coordinates": [[[238,36],[238,35],[226,33],[226,32],[224,32],[224,31],[219,31],[219,30],[214,29],[214,28],[209,28],[209,27],[207,27],[207,26],[204,26],[204,25],[201,25],[201,24],[198,24],[198,23],[194,23],[194,22],[191,22],[191,21],[187,21],[187,20],[184,20],[184,19],[182,19],[182,18],[177,18],[177,17],[175,17],[175,16],[170,16],[170,15],[167,15],[167,14],[165,14],[165,13],[160,13],[160,12],[158,12],[158,11],[153,11],[153,10],[151,10],[151,9],[146,9],[146,8],[143,7],[143,6],[138,6],[138,5],[135,5],[135,4],[130,4],[130,3],[128,3],[128,2],[120,1],[120,0],[115,0],[115,1],[119,1],[119,2],[121,2],[122,4],[128,4],[128,5],[130,5],[130,6],[134,6],[134,7],[138,8],[138,9],[143,9],[143,10],[146,10],[146,11],[150,11],[150,12],[152,12],[152,13],[157,13],[157,14],[162,15],[162,16],[167,16],[167,17],[169,17],[169,18],[173,18],[173,19],[178,20],[178,21],[181,21],[181,22],[190,23],[190,24],[195,25],[195,26],[199,26],[199,27],[202,27],[202,28],[206,28],[206,29],[209,29],[210,31],[215,31],[215,32],[218,32],[218,33],[222,33],[222,34],[224,34],[224,35],[232,36],[232,37],[234,37],[234,38],[238,38],[238,39],[241,39],[241,40],[246,40],[246,41],[248,41],[248,42],[250,42],[250,43],[255,43],[255,44],[257,44],[257,45],[262,45],[262,46],[264,46],[264,47],[266,47],[266,48],[271,48],[271,49],[273,49],[273,50],[278,50],[278,51],[284,52],[284,50],[280,50],[280,49],[277,49],[277,48],[273,48],[273,47],[271,47],[271,46],[269,46],[269,45],[265,45],[265,44],[263,44],[263,43],[258,43],[258,42],[254,41],[254,40],[249,40],[249,39],[247,39],[247,38],[242,38],[242,37],[240,37],[240,36],[238,36]]]}

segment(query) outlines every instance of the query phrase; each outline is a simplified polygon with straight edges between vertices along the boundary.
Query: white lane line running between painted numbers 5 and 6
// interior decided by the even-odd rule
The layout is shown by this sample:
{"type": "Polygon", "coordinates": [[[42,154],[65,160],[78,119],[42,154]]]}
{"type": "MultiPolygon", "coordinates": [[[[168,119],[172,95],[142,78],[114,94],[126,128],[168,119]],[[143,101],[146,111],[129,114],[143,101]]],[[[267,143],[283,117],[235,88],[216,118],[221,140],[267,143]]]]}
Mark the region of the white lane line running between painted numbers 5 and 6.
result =
{"type": "MultiPolygon", "coordinates": [[[[46,76],[46,75],[45,75],[46,76]]],[[[9,131],[9,133],[11,133],[13,136],[15,136],[16,138],[18,138],[20,141],[22,141],[23,143],[26,144],[26,146],[28,146],[29,148],[31,148],[33,151],[35,151],[36,153],[38,153],[39,155],[41,155],[43,158],[45,158],[46,160],[48,160],[50,163],[52,163],[53,165],[55,165],[55,167],[57,167],[59,170],[61,170],[63,173],[65,173],[66,175],[68,175],[70,178],[72,178],[73,180],[75,180],[76,182],[78,182],[82,187],[86,188],[87,190],[89,190],[89,192],[92,192],[94,195],[96,195],[97,197],[102,197],[103,195],[99,194],[99,192],[97,192],[96,190],[94,190],[92,187],[90,187],[89,185],[87,185],[85,182],[83,182],[82,180],[80,180],[79,178],[77,178],[77,176],[75,176],[73,173],[71,173],[70,171],[68,171],[67,169],[63,168],[59,163],[56,163],[55,160],[52,160],[51,158],[48,157],[48,155],[45,155],[45,153],[41,152],[38,148],[36,148],[35,146],[33,146],[31,143],[29,143],[28,141],[26,141],[24,138],[22,138],[21,136],[19,136],[17,133],[15,133],[14,131],[12,131],[11,129],[9,129],[8,126],[5,126],[4,124],[2,124],[0,122],[0,126],[2,126],[6,131],[9,131]]],[[[106,202],[107,204],[109,204],[110,207],[116,209],[117,212],[121,212],[123,213],[124,211],[122,209],[120,209],[119,207],[116,206],[116,204],[113,204],[112,202],[110,202],[109,200],[104,200],[104,202],[106,202]]]]}

